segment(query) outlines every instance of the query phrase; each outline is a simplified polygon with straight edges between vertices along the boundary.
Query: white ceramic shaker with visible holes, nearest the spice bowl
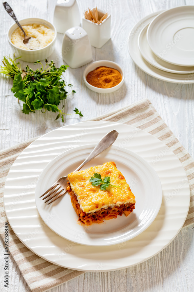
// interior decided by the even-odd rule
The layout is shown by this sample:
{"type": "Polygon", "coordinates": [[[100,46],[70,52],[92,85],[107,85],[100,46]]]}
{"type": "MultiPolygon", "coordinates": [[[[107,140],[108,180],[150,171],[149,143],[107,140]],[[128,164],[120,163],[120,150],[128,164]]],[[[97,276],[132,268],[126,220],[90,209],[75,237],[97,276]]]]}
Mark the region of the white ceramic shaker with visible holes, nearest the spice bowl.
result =
{"type": "Polygon", "coordinates": [[[92,61],[90,40],[82,27],[67,29],[63,37],[62,57],[71,68],[78,68],[92,61]]]}

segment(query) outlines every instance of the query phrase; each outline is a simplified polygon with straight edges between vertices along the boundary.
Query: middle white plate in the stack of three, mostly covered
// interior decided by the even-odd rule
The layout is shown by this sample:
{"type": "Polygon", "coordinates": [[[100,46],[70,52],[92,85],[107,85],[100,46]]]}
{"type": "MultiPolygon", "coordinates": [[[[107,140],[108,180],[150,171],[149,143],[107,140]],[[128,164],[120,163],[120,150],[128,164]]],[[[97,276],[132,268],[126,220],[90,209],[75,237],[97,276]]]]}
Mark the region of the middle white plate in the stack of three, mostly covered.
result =
{"type": "Polygon", "coordinates": [[[159,56],[156,56],[148,42],[147,42],[147,28],[149,24],[143,27],[138,37],[138,47],[143,56],[143,58],[154,67],[161,69],[166,72],[176,73],[176,74],[185,74],[185,73],[193,73],[193,67],[183,67],[177,66],[174,64],[170,64],[168,62],[163,61],[159,56]]]}

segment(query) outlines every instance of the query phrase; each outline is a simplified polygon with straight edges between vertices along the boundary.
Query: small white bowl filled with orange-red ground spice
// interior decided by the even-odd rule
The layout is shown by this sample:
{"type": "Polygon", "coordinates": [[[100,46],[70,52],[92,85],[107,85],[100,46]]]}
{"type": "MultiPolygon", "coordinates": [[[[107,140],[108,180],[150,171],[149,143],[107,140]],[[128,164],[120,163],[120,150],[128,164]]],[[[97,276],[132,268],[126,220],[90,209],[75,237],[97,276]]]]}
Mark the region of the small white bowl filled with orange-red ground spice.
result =
{"type": "Polygon", "coordinates": [[[111,93],[124,83],[124,72],[120,65],[108,60],[91,63],[83,72],[86,86],[98,93],[111,93]]]}

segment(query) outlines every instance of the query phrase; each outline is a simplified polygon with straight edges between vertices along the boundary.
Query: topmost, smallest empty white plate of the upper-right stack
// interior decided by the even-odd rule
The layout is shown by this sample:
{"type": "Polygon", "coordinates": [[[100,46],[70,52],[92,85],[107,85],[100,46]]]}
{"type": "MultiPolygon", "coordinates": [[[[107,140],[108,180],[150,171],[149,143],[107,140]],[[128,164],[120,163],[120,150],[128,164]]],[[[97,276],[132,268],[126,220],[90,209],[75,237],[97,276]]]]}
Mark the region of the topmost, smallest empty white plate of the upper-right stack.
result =
{"type": "Polygon", "coordinates": [[[194,6],[179,6],[156,16],[147,29],[147,41],[162,60],[194,66],[194,6]]]}

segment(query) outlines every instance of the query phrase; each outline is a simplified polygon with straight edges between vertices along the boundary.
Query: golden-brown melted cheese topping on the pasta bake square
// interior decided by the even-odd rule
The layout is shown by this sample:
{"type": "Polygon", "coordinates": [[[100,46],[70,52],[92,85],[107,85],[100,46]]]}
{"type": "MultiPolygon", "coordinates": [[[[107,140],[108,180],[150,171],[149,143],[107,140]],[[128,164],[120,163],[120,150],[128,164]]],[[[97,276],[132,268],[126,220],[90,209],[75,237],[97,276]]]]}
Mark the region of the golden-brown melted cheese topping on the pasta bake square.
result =
{"type": "Polygon", "coordinates": [[[106,162],[103,165],[74,171],[68,174],[68,180],[73,192],[76,194],[80,208],[86,213],[95,212],[101,208],[119,206],[128,202],[135,203],[134,194],[114,162],[106,162]],[[121,187],[109,186],[105,191],[100,190],[100,186],[93,187],[92,183],[90,183],[90,178],[95,173],[100,173],[102,179],[105,176],[110,176],[111,185],[121,185],[121,187]]]}

